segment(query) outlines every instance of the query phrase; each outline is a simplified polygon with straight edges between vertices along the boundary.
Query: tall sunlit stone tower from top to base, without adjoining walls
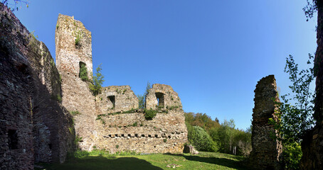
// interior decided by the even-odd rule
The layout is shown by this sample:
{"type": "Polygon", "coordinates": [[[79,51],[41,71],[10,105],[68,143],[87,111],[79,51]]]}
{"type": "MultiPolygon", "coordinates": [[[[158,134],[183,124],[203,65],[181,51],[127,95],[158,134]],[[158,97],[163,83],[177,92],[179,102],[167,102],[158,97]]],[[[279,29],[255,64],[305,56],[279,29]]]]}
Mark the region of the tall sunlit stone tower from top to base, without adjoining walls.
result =
{"type": "Polygon", "coordinates": [[[62,104],[68,111],[78,111],[75,132],[82,137],[81,149],[90,149],[95,131],[95,97],[88,81],[80,78],[80,67],[92,75],[92,37],[89,30],[74,17],[59,14],[55,30],[56,64],[62,81],[62,104]]]}

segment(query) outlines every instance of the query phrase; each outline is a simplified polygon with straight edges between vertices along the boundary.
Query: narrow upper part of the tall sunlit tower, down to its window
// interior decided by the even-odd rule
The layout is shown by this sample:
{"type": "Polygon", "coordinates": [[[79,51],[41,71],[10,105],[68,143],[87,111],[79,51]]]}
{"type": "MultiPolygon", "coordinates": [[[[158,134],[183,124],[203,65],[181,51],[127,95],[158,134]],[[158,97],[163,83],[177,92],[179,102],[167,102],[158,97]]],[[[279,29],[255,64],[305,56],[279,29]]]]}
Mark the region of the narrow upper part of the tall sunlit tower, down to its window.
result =
{"type": "Polygon", "coordinates": [[[92,74],[92,35],[83,23],[73,16],[58,15],[55,30],[56,65],[59,72],[77,76],[80,62],[86,65],[88,77],[92,74]]]}

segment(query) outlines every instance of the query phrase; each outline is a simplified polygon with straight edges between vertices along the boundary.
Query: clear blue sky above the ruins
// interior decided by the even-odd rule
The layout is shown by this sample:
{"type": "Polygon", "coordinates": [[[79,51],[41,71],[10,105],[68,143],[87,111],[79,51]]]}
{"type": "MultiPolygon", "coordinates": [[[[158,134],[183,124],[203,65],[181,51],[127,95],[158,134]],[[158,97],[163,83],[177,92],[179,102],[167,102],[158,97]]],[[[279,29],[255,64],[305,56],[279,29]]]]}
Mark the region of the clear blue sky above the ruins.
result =
{"type": "Polygon", "coordinates": [[[184,111],[250,126],[257,81],[275,74],[288,91],[285,58],[305,66],[316,45],[316,18],[306,22],[305,0],[83,1],[30,0],[16,11],[55,59],[58,13],[92,32],[93,68],[102,63],[105,86],[147,81],[168,84],[184,111]]]}

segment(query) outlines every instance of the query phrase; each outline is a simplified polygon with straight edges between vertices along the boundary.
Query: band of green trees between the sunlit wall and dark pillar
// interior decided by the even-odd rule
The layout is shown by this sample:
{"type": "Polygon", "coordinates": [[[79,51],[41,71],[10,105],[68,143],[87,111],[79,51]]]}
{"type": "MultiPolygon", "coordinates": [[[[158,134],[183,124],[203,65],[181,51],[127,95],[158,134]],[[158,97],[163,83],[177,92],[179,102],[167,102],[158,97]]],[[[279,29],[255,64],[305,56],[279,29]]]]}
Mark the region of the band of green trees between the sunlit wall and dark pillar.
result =
{"type": "Polygon", "coordinates": [[[250,154],[250,128],[246,131],[238,130],[235,129],[234,120],[224,120],[223,123],[220,124],[217,118],[215,120],[212,120],[210,116],[206,115],[205,113],[184,114],[186,127],[189,132],[189,142],[191,143],[191,145],[194,145],[196,149],[232,154],[233,148],[236,147],[236,154],[243,155],[245,157],[248,157],[248,155],[250,154]],[[197,129],[198,132],[196,132],[197,129]],[[205,137],[196,137],[202,135],[205,137]],[[206,140],[206,138],[208,138],[207,136],[211,137],[211,140],[206,140]]]}

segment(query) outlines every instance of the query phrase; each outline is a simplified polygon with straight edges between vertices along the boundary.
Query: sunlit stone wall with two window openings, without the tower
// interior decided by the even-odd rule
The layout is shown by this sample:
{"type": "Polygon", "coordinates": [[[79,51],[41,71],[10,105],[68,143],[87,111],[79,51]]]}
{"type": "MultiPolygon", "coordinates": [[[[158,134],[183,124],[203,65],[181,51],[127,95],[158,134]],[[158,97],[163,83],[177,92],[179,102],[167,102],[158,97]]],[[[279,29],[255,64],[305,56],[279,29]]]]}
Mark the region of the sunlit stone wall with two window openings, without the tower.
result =
{"type": "Polygon", "coordinates": [[[166,104],[164,107],[151,107],[158,113],[152,120],[146,120],[142,109],[132,110],[132,113],[112,112],[120,111],[118,102],[121,106],[126,106],[122,111],[138,108],[138,99],[129,86],[110,86],[102,91],[97,103],[107,103],[105,101],[107,96],[115,95],[115,108],[118,109],[111,109],[111,104],[100,106],[97,113],[101,114],[98,114],[96,120],[99,130],[93,146],[97,149],[107,149],[112,153],[128,150],[142,153],[183,152],[184,143],[187,142],[187,129],[179,96],[171,86],[154,84],[149,91],[151,95],[147,97],[147,103],[157,102],[155,92],[165,94],[166,104]],[[102,108],[107,110],[102,111],[102,108]]]}

